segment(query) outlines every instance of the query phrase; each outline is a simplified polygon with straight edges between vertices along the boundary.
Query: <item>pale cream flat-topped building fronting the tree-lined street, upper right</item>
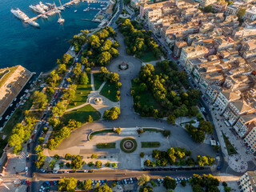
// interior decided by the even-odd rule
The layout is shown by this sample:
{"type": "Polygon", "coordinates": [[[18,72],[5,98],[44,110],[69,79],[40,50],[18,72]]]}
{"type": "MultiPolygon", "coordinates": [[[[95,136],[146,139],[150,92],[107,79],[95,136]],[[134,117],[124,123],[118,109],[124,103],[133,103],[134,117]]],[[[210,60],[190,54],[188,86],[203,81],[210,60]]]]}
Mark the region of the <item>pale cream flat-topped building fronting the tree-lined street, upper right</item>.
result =
{"type": "Polygon", "coordinates": [[[204,57],[206,54],[208,54],[208,50],[205,46],[186,46],[182,48],[179,62],[182,66],[186,66],[188,59],[204,57]]]}

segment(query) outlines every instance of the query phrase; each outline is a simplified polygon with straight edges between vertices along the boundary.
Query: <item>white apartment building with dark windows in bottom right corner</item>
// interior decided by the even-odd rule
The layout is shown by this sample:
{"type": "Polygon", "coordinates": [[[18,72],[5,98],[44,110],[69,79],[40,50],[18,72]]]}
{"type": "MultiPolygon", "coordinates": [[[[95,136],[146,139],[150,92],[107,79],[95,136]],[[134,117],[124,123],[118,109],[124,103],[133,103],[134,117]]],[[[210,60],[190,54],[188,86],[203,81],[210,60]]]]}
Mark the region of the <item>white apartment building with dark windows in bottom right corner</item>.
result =
{"type": "Polygon", "coordinates": [[[256,191],[255,186],[256,181],[256,172],[255,171],[247,171],[245,174],[239,178],[239,188],[243,192],[254,192],[256,191]]]}

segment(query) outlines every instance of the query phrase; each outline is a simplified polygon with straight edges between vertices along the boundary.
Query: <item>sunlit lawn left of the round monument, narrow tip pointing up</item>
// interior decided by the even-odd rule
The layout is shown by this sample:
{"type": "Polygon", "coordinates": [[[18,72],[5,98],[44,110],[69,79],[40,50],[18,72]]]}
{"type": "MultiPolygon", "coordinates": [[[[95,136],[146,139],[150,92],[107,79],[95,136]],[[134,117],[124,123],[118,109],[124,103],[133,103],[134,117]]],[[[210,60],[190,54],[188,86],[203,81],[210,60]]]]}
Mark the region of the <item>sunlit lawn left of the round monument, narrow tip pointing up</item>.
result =
{"type": "Polygon", "coordinates": [[[91,82],[90,82],[90,74],[88,75],[89,82],[87,85],[78,85],[77,90],[75,91],[75,99],[73,102],[70,102],[70,105],[67,106],[67,109],[71,109],[75,106],[81,106],[86,102],[88,94],[91,91],[91,82]],[[76,105],[74,103],[76,102],[76,105]]]}

